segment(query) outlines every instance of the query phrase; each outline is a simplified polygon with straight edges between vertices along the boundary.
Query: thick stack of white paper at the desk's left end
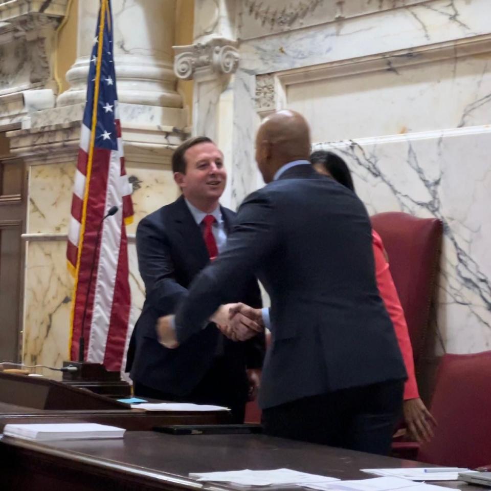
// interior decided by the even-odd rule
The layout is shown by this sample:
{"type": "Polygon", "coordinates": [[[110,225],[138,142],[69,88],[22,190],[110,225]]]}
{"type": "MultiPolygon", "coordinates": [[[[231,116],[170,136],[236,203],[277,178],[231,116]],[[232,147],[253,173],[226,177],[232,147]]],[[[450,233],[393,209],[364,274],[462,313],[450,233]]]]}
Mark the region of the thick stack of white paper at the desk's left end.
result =
{"type": "Polygon", "coordinates": [[[97,423],[6,424],[4,435],[26,440],[123,438],[125,430],[97,423]]]}

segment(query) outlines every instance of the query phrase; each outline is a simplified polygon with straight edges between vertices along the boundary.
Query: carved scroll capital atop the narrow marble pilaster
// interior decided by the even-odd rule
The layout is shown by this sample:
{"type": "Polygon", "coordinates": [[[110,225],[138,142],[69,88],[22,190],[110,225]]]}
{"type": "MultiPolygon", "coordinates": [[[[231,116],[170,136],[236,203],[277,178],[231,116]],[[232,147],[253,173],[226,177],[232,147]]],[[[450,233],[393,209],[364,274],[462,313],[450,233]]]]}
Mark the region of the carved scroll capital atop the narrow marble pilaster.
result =
{"type": "Polygon", "coordinates": [[[230,75],[239,65],[237,41],[216,37],[205,43],[174,46],[174,73],[183,80],[200,73],[230,75]]]}

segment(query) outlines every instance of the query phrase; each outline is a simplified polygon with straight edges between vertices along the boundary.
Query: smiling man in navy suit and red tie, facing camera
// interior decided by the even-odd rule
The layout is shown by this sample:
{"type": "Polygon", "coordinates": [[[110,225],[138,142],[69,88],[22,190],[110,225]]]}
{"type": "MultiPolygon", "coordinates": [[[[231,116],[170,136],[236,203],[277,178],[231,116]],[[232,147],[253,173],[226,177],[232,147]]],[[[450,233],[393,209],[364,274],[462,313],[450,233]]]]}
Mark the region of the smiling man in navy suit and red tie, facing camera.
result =
{"type": "MultiPolygon", "coordinates": [[[[175,312],[196,274],[224,248],[235,217],[218,203],[227,173],[222,153],[209,138],[192,138],[178,147],[172,169],[183,195],[145,217],[137,229],[146,298],[131,337],[126,370],[135,395],[225,405],[236,422],[243,422],[245,402],[258,388],[264,333],[245,343],[225,337],[219,329],[226,332],[237,320],[252,322],[244,316],[231,321],[229,306],[216,306],[214,315],[202,319],[196,334],[176,350],[159,344],[155,333],[159,316],[175,312]]],[[[235,302],[261,306],[251,273],[234,291],[235,302]]]]}

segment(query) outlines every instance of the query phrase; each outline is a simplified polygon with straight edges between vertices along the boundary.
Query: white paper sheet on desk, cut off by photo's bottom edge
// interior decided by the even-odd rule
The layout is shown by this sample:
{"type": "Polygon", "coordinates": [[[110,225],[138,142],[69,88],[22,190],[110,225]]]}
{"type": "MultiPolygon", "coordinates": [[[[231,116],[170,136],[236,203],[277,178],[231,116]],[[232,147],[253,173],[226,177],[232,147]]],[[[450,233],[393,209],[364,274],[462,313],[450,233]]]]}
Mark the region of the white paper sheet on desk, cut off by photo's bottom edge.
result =
{"type": "MultiPolygon", "coordinates": [[[[441,491],[442,486],[422,484],[398,477],[375,477],[356,481],[338,481],[326,484],[312,483],[304,487],[320,491],[441,491]]],[[[445,488],[443,488],[445,489],[445,488]]]]}

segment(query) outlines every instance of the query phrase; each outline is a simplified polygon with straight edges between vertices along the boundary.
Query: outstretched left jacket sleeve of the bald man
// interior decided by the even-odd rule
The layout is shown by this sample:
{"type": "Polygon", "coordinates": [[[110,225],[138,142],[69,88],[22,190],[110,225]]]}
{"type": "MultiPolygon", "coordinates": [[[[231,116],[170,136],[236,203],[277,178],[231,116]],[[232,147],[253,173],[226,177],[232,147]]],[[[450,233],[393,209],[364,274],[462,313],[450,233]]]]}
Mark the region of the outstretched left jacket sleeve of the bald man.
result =
{"type": "Polygon", "coordinates": [[[264,189],[256,191],[240,206],[225,249],[196,276],[178,306],[175,328],[180,343],[197,332],[219,305],[239,296],[251,271],[275,248],[277,235],[273,203],[264,189]]]}

